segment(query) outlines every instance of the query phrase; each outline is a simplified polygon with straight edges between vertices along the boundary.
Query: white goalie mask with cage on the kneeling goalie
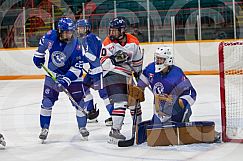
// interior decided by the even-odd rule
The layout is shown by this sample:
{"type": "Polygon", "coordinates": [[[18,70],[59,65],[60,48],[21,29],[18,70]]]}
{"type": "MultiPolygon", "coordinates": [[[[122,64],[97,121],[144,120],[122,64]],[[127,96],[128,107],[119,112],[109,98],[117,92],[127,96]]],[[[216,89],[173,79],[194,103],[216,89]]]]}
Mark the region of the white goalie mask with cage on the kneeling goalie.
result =
{"type": "Polygon", "coordinates": [[[173,51],[169,46],[161,46],[154,53],[155,72],[160,72],[166,67],[173,65],[173,51]],[[163,60],[164,59],[164,60],[163,60]]]}

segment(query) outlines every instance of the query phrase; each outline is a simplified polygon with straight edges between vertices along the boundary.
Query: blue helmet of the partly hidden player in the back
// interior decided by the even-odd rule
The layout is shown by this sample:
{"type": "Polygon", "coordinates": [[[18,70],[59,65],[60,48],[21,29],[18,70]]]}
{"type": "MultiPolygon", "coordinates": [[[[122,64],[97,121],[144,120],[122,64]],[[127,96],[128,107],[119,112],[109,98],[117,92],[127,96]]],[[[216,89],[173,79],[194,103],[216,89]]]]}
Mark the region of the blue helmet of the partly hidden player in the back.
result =
{"type": "Polygon", "coordinates": [[[79,19],[76,22],[76,27],[77,27],[78,34],[81,37],[91,32],[91,23],[87,19],[79,19]]]}

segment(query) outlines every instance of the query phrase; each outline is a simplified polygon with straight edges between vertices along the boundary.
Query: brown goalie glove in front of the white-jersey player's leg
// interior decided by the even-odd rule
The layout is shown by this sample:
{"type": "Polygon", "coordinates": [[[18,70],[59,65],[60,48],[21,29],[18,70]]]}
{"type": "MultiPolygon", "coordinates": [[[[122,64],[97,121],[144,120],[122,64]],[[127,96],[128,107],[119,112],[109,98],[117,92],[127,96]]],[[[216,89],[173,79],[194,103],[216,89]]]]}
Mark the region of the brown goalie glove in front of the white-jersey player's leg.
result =
{"type": "Polygon", "coordinates": [[[127,106],[135,106],[136,102],[143,102],[144,99],[144,90],[141,88],[134,86],[134,85],[128,85],[128,103],[127,106]]]}

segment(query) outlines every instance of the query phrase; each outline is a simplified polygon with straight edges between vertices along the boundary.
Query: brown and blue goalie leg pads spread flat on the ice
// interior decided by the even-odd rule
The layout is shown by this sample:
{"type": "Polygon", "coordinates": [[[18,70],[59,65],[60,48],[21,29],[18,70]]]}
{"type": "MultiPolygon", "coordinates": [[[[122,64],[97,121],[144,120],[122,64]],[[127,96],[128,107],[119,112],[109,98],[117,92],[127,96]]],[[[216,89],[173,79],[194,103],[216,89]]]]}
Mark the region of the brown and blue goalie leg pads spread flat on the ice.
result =
{"type": "Polygon", "coordinates": [[[152,124],[151,120],[137,126],[136,143],[148,146],[183,145],[215,142],[215,123],[196,121],[186,123],[152,124]]]}

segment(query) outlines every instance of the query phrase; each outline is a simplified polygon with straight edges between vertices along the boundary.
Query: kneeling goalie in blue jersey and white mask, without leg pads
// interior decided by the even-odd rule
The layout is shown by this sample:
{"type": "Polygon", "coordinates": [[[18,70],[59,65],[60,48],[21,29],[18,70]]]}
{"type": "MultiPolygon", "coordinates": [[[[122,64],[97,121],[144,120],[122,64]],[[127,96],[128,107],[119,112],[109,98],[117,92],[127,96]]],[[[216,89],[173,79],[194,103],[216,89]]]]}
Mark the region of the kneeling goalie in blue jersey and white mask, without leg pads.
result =
{"type": "MultiPolygon", "coordinates": [[[[155,51],[154,62],[143,70],[138,80],[138,88],[150,86],[154,94],[153,124],[188,122],[192,114],[196,91],[181,68],[173,65],[173,59],[171,47],[159,47],[155,51]]],[[[138,93],[134,93],[133,97],[139,96],[138,93]]]]}

